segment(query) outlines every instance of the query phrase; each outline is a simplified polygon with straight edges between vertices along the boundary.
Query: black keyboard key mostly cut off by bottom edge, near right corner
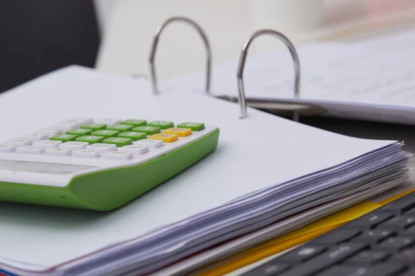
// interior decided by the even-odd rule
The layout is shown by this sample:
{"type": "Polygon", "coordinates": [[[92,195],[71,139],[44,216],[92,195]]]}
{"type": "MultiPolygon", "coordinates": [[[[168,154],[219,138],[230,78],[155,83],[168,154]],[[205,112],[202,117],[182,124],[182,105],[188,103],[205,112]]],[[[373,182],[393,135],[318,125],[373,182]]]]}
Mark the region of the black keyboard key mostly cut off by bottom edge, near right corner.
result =
{"type": "Polygon", "coordinates": [[[333,266],[318,276],[395,276],[405,270],[401,264],[378,264],[376,266],[333,266]]]}

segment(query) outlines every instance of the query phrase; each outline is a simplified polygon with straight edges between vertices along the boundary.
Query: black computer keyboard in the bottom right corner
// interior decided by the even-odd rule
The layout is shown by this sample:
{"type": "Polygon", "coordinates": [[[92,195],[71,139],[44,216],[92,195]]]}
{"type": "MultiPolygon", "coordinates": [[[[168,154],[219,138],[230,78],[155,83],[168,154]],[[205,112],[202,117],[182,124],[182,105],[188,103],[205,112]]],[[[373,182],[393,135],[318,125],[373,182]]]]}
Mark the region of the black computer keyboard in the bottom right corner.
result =
{"type": "Polygon", "coordinates": [[[243,275],[415,276],[415,192],[243,275]]]}

